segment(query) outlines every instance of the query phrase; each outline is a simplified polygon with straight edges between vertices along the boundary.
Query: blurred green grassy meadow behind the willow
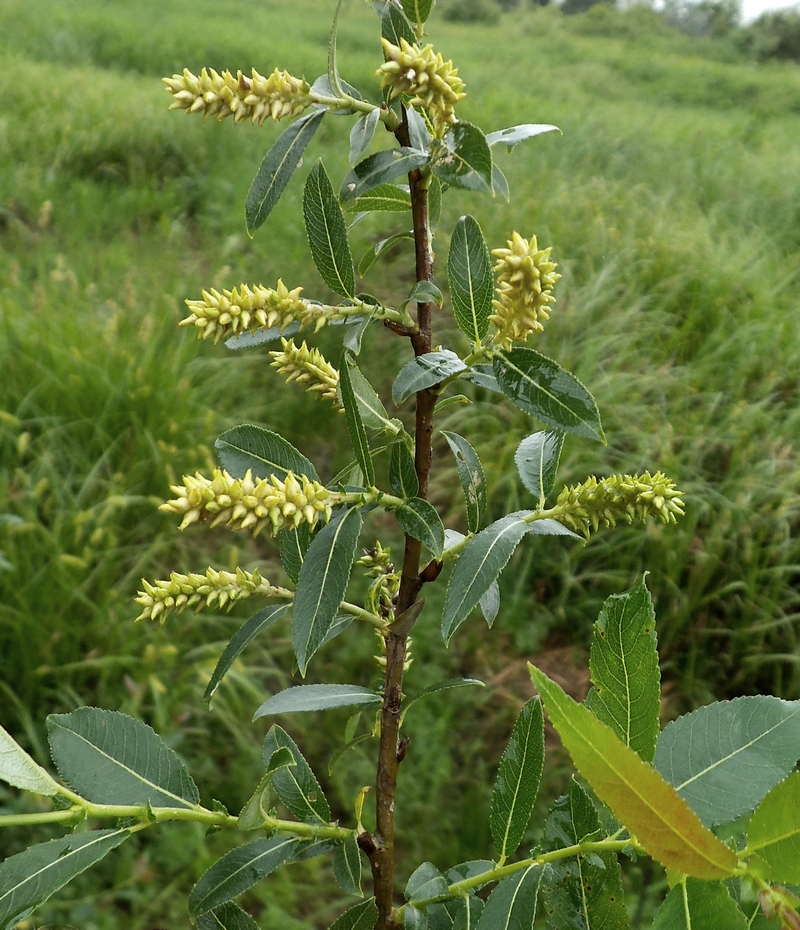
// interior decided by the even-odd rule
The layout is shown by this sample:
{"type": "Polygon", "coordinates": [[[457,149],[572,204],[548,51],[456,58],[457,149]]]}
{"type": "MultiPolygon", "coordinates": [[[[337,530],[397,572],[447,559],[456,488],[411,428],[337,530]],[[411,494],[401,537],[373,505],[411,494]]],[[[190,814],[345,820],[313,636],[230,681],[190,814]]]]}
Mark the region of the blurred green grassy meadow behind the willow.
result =
{"type": "MultiPolygon", "coordinates": [[[[143,576],[245,560],[277,579],[280,564],[266,543],[178,535],[156,505],[170,482],[210,466],[214,438],[236,423],[286,435],[328,476],[345,463],[346,434],[280,382],[263,350],[231,353],[177,328],[183,299],[204,287],[282,277],[325,292],[300,219],[302,170],[255,238],[244,230],[244,196],[276,127],[170,113],[160,78],[278,65],[313,79],[325,70],[333,7],[6,0],[0,9],[0,723],[44,762],[47,713],[85,703],[132,713],[231,810],[260,765],[252,710],[289,680],[287,630],[250,648],[209,713],[208,676],[248,605],[158,628],[133,623],[132,598],[143,576]]],[[[488,803],[486,760],[529,693],[525,661],[539,656],[581,694],[600,605],[644,570],[666,716],[712,696],[800,698],[800,67],[754,64],[724,40],[605,5],[570,18],[525,8],[496,26],[434,13],[430,32],[467,84],[463,118],[487,131],[520,121],[563,131],[498,155],[510,205],[449,193],[440,259],[464,212],[492,246],[515,228],[552,244],[564,277],[540,347],[593,391],[608,437],[604,447],[569,440],[561,478],[660,468],[688,502],[677,527],[521,547],[491,648],[482,621],[446,653],[435,609],[418,626],[416,686],[455,674],[488,685],[466,704],[445,694],[420,705],[413,721],[401,843],[445,866],[462,850],[488,854],[487,828],[464,812],[488,803]],[[428,825],[424,836],[415,822],[428,825]]],[[[376,94],[380,51],[360,0],[346,7],[340,57],[347,80],[376,94]]],[[[326,120],[307,165],[324,155],[341,178],[332,143],[348,130],[326,120]]],[[[386,234],[381,222],[356,227],[357,253],[386,234]]],[[[365,287],[404,296],[408,258],[392,254],[365,287]]],[[[384,349],[369,338],[365,369],[388,388],[384,349]]],[[[526,506],[508,475],[530,420],[477,389],[473,401],[468,438],[489,473],[490,507],[526,506]]],[[[456,408],[445,419],[458,428],[456,408]]],[[[451,477],[445,467],[434,489],[444,508],[451,477]]],[[[339,643],[323,653],[319,680],[355,680],[374,649],[368,634],[339,643]]],[[[300,728],[320,771],[335,732],[318,721],[300,728]]],[[[329,780],[342,816],[373,777],[368,754],[349,755],[329,780]]],[[[0,788],[4,809],[25,803],[0,788]]],[[[212,855],[202,833],[173,832],[165,846],[129,844],[28,926],[185,926],[176,889],[212,855]]],[[[27,845],[8,833],[3,854],[27,845]]],[[[221,842],[209,841],[217,854],[221,842]]],[[[260,925],[327,926],[336,911],[310,889],[331,877],[317,861],[286,874],[250,895],[260,925]]],[[[663,878],[629,876],[641,927],[645,880],[652,890],[663,878]]]]}

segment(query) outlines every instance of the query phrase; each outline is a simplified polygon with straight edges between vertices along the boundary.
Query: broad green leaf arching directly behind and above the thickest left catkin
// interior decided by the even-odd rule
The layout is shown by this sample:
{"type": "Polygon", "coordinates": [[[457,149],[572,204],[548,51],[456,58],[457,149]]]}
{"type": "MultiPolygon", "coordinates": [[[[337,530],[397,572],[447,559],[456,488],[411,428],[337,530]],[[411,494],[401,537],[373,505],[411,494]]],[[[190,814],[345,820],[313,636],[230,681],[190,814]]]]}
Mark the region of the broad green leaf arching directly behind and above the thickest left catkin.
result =
{"type": "Polygon", "coordinates": [[[222,467],[234,478],[243,478],[250,469],[254,478],[275,475],[283,481],[288,472],[314,481],[319,475],[309,460],[282,436],[245,423],[224,432],[214,443],[222,467]]]}

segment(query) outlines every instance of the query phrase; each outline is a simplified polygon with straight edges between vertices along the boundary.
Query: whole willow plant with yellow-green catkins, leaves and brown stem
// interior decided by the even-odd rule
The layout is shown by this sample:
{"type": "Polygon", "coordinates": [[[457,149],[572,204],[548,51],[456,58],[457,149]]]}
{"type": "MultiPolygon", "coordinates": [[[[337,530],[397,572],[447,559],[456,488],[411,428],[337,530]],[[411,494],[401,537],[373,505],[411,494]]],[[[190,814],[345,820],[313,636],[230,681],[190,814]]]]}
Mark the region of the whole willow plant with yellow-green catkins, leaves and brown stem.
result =
{"type": "MultiPolygon", "coordinates": [[[[58,778],[0,731],[0,778],[52,799],[51,809],[40,805],[32,813],[0,815],[0,825],[50,823],[70,830],[0,865],[0,927],[14,926],[132,834],[174,820],[229,829],[239,839],[189,895],[189,915],[204,930],[253,930],[255,920],[235,899],[284,863],[323,855],[332,857],[342,893],[360,899],[343,905],[335,930],[532,927],[540,899],[541,922],[552,930],[621,930],[629,924],[619,856],[645,855],[666,867],[671,889],[656,930],[745,930],[767,922],[797,930],[798,899],[790,886],[800,884],[800,704],[742,697],[702,708],[659,732],[655,617],[644,578],[611,596],[595,624],[593,687],[583,703],[531,666],[538,695],[524,703],[514,725],[487,812],[496,857],[442,869],[424,862],[400,893],[395,815],[402,811],[395,810],[395,793],[408,746],[404,715],[424,696],[415,693],[413,671],[408,685],[405,676],[410,633],[416,623],[435,619],[424,606],[425,586],[448,568],[441,617],[447,644],[477,612],[492,625],[498,577],[525,537],[561,537],[553,544],[569,545],[620,521],[669,524],[683,513],[683,498],[655,471],[590,476],[553,499],[565,436],[594,442],[605,437],[589,391],[532,347],[554,310],[559,275],[551,249],[524,230],[510,231],[507,243],[490,251],[478,221],[462,216],[448,231],[445,300],[435,283],[433,243],[442,198],[452,191],[494,196],[493,209],[508,197],[494,147],[511,149],[556,127],[526,123],[484,134],[460,120],[464,82],[425,41],[433,0],[370,5],[378,14],[376,50],[380,38],[383,61],[376,62],[376,86],[363,93],[339,73],[338,8],[327,72],[312,84],[278,69],[269,77],[209,68],[199,76],[187,70],[165,79],[172,107],[188,114],[258,124],[293,120],[268,151],[247,196],[251,234],[290,183],[320,123],[331,116],[353,121],[352,170],[338,195],[321,160],[308,172],[303,193],[311,255],[337,302],[314,299],[280,279],[274,287],[243,283],[187,300],[189,314],[181,324],[232,348],[271,345],[275,376],[313,392],[331,417],[343,413],[353,462],[323,480],[309,459],[268,429],[242,425],[224,433],[216,442],[219,468],[184,477],[162,510],[180,518],[181,529],[207,524],[271,537],[285,578],[275,584],[244,568],[176,571],[145,581],[137,600],[140,619],[159,623],[186,608],[221,609],[245,598],[268,602],[223,652],[208,684],[209,700],[247,644],[269,636],[289,611],[303,678],[323,644],[347,636],[353,623],[372,627],[380,642],[382,688],[297,684],[268,697],[255,718],[344,706],[362,719],[372,716],[366,737],[354,738],[372,736],[376,745],[375,827],[362,823],[366,790],[354,799],[351,822],[331,821],[320,783],[277,725],[264,742],[263,778],[244,808],[230,813],[218,802],[200,803],[184,764],[144,723],[83,707],[48,719],[58,778]],[[381,124],[388,132],[377,136],[381,124]],[[368,154],[377,139],[393,141],[368,154]],[[397,237],[413,240],[416,283],[396,306],[361,292],[356,283],[349,228],[372,213],[385,213],[404,229],[410,217],[411,233],[389,232],[358,266],[363,276],[387,244],[397,237]],[[450,313],[463,338],[442,348],[433,326],[450,313]],[[343,337],[338,368],[309,345],[334,324],[343,337]],[[401,340],[413,353],[391,391],[391,403],[408,416],[390,416],[359,368],[367,329],[382,329],[387,340],[401,340]],[[466,535],[445,528],[428,501],[436,415],[454,398],[465,399],[459,393],[465,383],[493,393],[498,403],[516,405],[539,425],[515,459],[529,509],[488,525],[478,455],[468,439],[442,431],[463,487],[460,525],[466,535]],[[387,460],[386,487],[376,482],[379,456],[387,460]],[[404,535],[397,558],[381,542],[361,548],[372,512],[397,521],[404,535]],[[355,566],[368,579],[360,603],[347,599],[355,566]],[[542,775],[544,711],[582,780],[570,781],[537,845],[520,852],[542,775]],[[112,825],[102,828],[104,820],[112,825]],[[371,871],[366,896],[365,862],[371,871]]],[[[466,679],[435,688],[476,684],[466,679]]]]}

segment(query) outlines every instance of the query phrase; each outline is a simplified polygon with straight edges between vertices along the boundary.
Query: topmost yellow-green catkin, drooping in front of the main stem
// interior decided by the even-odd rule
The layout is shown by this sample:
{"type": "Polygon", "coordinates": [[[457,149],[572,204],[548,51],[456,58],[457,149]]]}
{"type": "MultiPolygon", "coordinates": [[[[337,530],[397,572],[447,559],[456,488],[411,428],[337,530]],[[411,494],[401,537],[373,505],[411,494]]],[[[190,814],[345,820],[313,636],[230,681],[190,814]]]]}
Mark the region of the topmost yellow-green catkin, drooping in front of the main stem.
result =
{"type": "Polygon", "coordinates": [[[436,135],[442,136],[456,122],[455,106],[466,96],[458,68],[434,52],[432,45],[420,48],[405,39],[400,39],[399,46],[387,39],[381,42],[387,58],[375,72],[381,88],[391,88],[392,98],[407,95],[409,103],[424,107],[436,135]]]}

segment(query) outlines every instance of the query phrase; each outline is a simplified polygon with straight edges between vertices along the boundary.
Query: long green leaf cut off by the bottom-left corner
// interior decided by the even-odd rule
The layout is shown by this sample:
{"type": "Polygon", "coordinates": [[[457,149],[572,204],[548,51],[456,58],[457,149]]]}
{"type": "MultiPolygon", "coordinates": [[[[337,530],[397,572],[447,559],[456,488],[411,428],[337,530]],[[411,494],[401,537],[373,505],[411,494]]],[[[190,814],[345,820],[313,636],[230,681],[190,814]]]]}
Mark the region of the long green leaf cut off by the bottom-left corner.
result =
{"type": "Polygon", "coordinates": [[[90,830],[9,856],[0,863],[0,927],[15,927],[129,836],[129,830],[90,830]]]}

